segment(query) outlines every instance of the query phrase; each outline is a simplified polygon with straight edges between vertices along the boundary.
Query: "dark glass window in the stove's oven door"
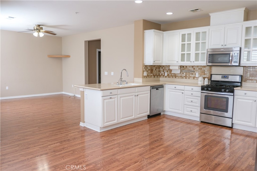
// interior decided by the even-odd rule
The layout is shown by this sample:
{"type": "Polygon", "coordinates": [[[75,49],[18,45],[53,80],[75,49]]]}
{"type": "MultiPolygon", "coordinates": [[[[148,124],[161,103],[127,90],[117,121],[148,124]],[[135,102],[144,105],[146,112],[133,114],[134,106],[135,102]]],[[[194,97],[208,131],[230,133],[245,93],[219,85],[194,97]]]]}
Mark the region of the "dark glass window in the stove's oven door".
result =
{"type": "Polygon", "coordinates": [[[227,113],[228,99],[228,97],[205,95],[204,109],[227,113]]]}

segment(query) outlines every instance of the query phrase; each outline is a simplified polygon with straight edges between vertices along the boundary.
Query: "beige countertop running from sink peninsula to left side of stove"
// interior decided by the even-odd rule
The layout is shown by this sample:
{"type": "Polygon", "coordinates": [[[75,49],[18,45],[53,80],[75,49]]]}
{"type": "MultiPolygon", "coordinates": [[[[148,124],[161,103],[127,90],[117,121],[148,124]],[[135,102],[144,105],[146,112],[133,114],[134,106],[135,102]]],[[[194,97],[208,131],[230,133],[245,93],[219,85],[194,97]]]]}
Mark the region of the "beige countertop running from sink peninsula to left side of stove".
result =
{"type": "Polygon", "coordinates": [[[119,88],[155,86],[155,85],[164,85],[164,84],[197,86],[197,87],[200,87],[201,85],[204,85],[204,84],[189,83],[189,82],[178,82],[178,81],[147,81],[147,82],[128,82],[128,83],[139,84],[139,85],[118,86],[116,84],[111,84],[111,83],[101,83],[101,84],[75,85],[75,87],[94,89],[94,90],[111,90],[111,89],[119,89],[119,88]]]}

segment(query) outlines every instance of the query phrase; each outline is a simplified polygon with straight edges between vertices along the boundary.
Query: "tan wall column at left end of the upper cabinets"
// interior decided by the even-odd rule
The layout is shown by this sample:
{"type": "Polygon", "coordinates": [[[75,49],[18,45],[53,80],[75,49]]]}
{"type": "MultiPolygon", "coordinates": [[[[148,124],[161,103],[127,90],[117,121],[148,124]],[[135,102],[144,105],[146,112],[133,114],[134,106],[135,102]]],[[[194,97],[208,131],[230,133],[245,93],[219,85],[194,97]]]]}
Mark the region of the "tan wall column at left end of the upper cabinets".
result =
{"type": "Polygon", "coordinates": [[[143,78],[144,30],[160,30],[161,25],[147,20],[134,21],[134,78],[143,78]]]}

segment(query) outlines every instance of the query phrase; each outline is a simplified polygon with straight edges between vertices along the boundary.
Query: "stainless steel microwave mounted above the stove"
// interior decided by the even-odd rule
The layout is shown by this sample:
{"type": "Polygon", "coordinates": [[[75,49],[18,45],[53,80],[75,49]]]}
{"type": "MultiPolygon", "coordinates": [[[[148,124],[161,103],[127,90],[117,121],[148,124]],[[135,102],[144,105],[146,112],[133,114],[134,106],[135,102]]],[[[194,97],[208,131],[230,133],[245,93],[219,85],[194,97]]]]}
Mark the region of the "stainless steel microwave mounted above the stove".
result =
{"type": "Polygon", "coordinates": [[[240,66],[241,47],[207,49],[206,65],[240,66]]]}

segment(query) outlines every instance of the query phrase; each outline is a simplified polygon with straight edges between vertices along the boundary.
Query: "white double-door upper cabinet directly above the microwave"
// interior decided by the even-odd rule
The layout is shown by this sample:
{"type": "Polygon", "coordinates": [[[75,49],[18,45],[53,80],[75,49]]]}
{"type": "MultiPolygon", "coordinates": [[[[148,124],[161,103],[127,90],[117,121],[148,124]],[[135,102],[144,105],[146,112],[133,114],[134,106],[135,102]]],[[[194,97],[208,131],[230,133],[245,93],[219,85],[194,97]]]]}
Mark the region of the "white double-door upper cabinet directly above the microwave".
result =
{"type": "Polygon", "coordinates": [[[214,27],[209,29],[209,47],[241,47],[242,25],[214,27]]]}

